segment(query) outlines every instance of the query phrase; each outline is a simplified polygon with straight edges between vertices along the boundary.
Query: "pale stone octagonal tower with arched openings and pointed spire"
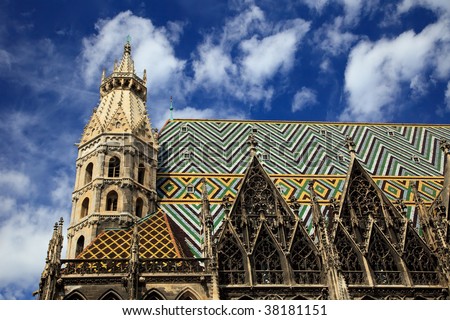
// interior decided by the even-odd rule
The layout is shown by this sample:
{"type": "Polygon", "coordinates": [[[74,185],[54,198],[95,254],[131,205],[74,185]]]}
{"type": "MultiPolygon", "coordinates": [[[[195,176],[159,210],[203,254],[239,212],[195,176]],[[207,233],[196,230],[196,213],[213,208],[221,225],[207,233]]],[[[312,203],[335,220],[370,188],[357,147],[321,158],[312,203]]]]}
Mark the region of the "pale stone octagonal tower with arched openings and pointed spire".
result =
{"type": "Polygon", "coordinates": [[[77,145],[68,228],[73,259],[106,228],[129,226],[154,212],[158,141],[146,111],[146,71],[134,70],[127,42],[120,63],[102,75],[100,103],[77,145]]]}

